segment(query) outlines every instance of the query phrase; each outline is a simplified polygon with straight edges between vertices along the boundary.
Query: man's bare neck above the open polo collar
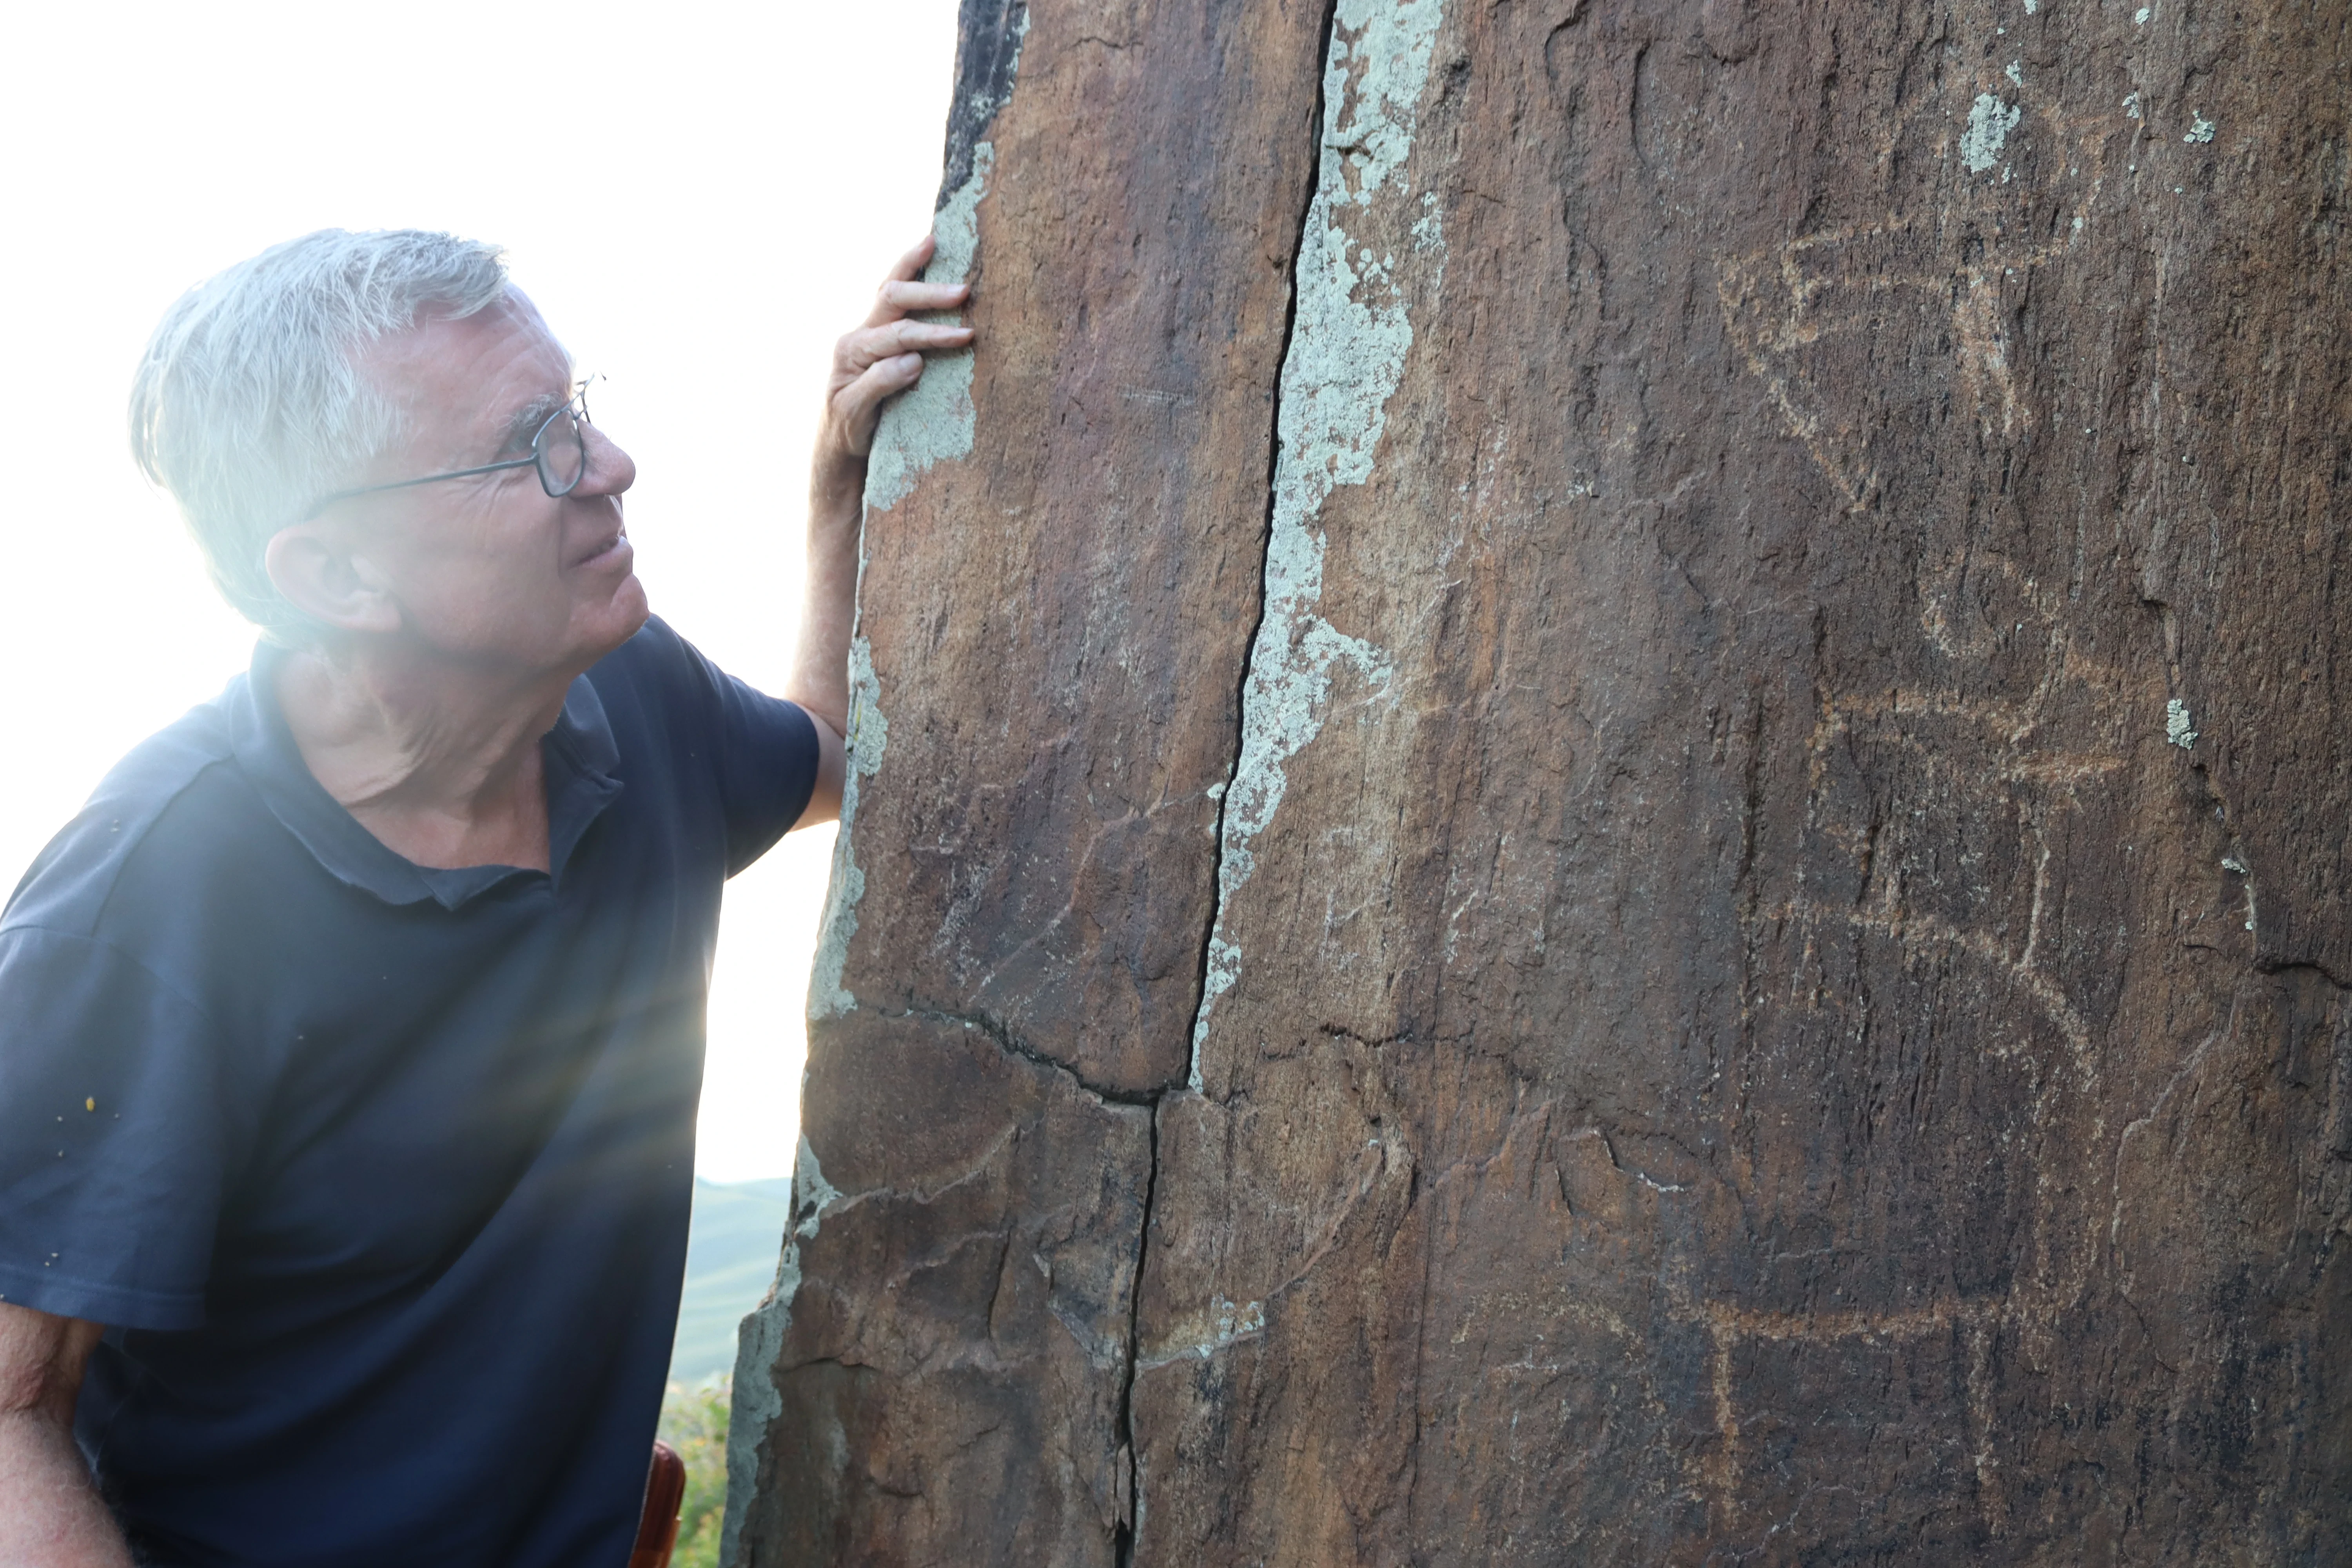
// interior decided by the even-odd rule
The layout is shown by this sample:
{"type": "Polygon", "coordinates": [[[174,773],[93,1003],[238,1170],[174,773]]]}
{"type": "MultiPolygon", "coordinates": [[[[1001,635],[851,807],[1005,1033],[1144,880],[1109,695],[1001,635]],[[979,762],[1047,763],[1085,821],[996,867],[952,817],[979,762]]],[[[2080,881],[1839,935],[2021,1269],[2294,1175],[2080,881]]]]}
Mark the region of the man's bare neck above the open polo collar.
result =
{"type": "Polygon", "coordinates": [[[412,649],[303,649],[278,665],[310,776],[390,851],[445,870],[548,870],[539,738],[569,686],[572,672],[485,672],[412,649]]]}

